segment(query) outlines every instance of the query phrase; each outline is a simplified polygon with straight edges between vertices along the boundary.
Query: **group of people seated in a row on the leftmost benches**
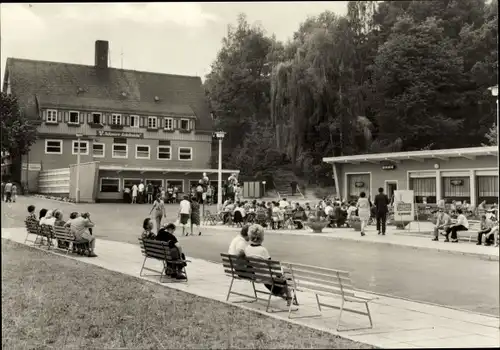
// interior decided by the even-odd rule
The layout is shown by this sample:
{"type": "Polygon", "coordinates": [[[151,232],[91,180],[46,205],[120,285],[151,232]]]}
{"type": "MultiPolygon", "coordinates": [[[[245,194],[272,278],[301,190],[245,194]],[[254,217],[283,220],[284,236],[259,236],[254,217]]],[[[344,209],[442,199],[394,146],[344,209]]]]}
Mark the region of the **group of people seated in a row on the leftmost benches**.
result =
{"type": "MultiPolygon", "coordinates": [[[[96,243],[95,237],[92,234],[92,229],[95,224],[90,220],[89,213],[72,212],[69,219],[64,221],[63,212],[59,209],[47,210],[43,208],[38,213],[38,217],[35,211],[36,207],[34,205],[28,206],[28,216],[26,217],[27,224],[29,224],[29,222],[33,222],[38,224],[40,227],[48,225],[52,227],[60,226],[68,228],[75,240],[88,244],[88,252],[82,252],[83,254],[89,257],[97,256],[94,252],[96,243]]],[[[67,242],[58,241],[57,245],[59,248],[67,248],[67,242]]],[[[74,245],[73,250],[75,252],[77,251],[77,247],[74,245]]]]}

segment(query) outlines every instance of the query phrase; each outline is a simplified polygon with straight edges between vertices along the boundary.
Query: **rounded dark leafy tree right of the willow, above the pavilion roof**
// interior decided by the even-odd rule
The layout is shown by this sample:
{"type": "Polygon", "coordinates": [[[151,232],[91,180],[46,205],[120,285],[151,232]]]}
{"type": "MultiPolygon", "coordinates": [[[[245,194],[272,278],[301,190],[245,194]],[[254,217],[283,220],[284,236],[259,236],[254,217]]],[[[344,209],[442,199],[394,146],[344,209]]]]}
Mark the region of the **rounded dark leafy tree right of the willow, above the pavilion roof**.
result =
{"type": "Polygon", "coordinates": [[[440,21],[401,17],[372,66],[378,135],[404,149],[459,145],[463,59],[440,21]],[[458,140],[457,140],[458,139],[458,140]]]}

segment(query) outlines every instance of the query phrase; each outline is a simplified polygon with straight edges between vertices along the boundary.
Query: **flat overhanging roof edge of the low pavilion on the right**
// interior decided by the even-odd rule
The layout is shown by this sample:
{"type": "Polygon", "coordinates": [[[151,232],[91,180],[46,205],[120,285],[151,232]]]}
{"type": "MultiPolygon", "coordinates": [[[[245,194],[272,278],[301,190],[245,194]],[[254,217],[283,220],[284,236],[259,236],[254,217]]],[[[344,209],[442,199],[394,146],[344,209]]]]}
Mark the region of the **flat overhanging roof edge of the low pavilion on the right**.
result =
{"type": "Polygon", "coordinates": [[[392,152],[392,153],[376,153],[376,154],[359,154],[343,157],[325,157],[323,161],[326,163],[343,163],[343,164],[359,164],[359,163],[380,163],[383,161],[400,162],[403,160],[413,160],[423,162],[425,159],[448,160],[450,158],[467,158],[475,159],[478,156],[494,156],[498,157],[498,147],[469,147],[469,148],[453,148],[441,150],[425,150],[412,152],[392,152]]]}

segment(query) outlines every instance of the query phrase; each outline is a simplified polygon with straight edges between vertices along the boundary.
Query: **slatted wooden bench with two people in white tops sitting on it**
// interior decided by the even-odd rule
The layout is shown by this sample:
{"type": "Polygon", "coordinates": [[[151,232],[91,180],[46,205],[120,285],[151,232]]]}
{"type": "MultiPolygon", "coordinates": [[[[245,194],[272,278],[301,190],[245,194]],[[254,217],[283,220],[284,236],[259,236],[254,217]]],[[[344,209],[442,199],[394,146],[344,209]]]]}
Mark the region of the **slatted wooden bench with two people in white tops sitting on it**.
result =
{"type": "MultiPolygon", "coordinates": [[[[255,283],[267,284],[272,288],[288,288],[287,281],[285,280],[286,275],[283,275],[281,269],[281,263],[276,260],[264,260],[258,258],[240,258],[236,255],[230,255],[221,253],[222,266],[224,267],[224,273],[231,277],[231,283],[229,285],[229,290],[227,292],[226,301],[229,301],[231,294],[239,295],[242,297],[251,298],[251,301],[238,301],[238,302],[255,302],[259,299],[257,293],[268,295],[266,312],[283,312],[292,311],[293,303],[290,303],[290,307],[284,310],[271,310],[271,297],[274,295],[270,291],[261,291],[255,288],[255,283]],[[279,278],[279,277],[282,278],[279,278]],[[283,278],[284,277],[284,278],[283,278]],[[252,284],[253,295],[242,294],[233,291],[233,284],[235,280],[248,281],[252,284]]],[[[297,299],[295,294],[293,295],[295,300],[297,299]]],[[[237,303],[237,302],[236,302],[237,303]]]]}

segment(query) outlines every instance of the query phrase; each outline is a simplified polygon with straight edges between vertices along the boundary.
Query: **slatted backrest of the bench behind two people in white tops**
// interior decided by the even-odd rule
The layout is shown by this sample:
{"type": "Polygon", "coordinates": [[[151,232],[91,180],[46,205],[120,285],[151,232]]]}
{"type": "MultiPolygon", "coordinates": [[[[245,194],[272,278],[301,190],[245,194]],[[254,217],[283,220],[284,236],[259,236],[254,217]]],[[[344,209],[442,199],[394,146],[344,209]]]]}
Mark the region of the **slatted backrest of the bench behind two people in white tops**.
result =
{"type": "Polygon", "coordinates": [[[224,273],[233,278],[250,279],[259,283],[281,285],[273,281],[282,274],[281,263],[276,260],[264,260],[259,258],[238,257],[221,253],[224,273]]]}

